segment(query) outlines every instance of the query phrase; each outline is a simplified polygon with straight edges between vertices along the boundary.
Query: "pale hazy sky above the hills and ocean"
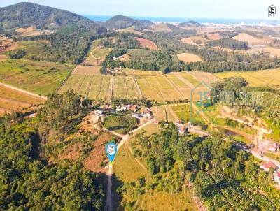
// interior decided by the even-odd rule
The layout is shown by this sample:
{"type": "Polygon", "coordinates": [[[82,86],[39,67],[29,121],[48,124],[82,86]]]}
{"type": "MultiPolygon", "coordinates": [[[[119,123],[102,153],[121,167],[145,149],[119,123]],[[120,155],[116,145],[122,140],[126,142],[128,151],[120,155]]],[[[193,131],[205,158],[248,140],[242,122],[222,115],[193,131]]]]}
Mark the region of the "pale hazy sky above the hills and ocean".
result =
{"type": "MultiPolygon", "coordinates": [[[[280,20],[280,13],[268,17],[279,0],[27,0],[80,15],[127,15],[146,17],[207,17],[280,20]]],[[[0,7],[18,3],[0,0],[0,7]]],[[[276,10],[278,12],[278,10],[276,10]]]]}

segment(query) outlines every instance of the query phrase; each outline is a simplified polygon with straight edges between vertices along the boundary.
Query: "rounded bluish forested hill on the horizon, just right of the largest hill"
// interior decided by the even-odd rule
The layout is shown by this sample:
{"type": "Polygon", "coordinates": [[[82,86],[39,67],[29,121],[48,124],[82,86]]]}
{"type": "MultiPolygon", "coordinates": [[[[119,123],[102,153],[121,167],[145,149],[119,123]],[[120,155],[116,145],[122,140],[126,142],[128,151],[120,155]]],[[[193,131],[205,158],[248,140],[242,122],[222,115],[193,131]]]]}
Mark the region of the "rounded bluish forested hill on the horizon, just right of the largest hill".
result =
{"type": "Polygon", "coordinates": [[[149,20],[134,20],[131,17],[116,15],[111,17],[111,19],[107,20],[102,24],[103,27],[108,29],[125,29],[127,27],[134,26],[136,29],[146,29],[153,25],[153,22],[149,20]]]}

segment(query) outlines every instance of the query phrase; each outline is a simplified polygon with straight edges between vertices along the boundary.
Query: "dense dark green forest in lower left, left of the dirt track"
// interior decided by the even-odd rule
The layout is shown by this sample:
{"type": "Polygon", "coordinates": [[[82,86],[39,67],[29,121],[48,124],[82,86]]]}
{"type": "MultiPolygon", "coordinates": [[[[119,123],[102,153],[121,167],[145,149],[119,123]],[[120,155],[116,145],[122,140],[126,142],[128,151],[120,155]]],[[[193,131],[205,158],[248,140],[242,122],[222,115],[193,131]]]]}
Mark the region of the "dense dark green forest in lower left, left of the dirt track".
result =
{"type": "Polygon", "coordinates": [[[0,118],[0,210],[102,210],[97,175],[78,162],[48,163],[44,150],[50,131],[59,140],[80,112],[78,96],[67,92],[50,96],[35,121],[18,113],[0,118]]]}

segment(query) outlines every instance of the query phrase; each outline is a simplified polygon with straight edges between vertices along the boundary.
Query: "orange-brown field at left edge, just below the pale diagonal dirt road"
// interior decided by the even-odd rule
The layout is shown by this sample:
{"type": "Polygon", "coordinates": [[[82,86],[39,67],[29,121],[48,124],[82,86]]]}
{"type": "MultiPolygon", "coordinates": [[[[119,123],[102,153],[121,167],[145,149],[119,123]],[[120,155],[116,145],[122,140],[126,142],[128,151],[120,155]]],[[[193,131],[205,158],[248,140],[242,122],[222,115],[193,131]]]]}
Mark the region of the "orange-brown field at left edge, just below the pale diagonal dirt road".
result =
{"type": "Polygon", "coordinates": [[[28,108],[31,105],[43,103],[43,101],[43,99],[38,99],[35,96],[0,85],[0,115],[5,111],[20,111],[22,108],[28,108]]]}

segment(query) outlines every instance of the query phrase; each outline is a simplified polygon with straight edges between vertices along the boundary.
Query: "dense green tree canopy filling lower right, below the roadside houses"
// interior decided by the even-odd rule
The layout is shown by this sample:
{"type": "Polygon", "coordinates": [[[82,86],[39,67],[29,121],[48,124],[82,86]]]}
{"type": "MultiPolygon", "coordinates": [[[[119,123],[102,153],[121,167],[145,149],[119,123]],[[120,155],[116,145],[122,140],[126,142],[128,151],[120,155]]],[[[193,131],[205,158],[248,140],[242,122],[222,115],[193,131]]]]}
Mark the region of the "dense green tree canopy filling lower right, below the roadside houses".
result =
{"type": "Polygon", "coordinates": [[[150,137],[137,135],[134,154],[153,175],[147,188],[178,193],[192,184],[209,210],[279,210],[279,191],[244,150],[223,136],[182,138],[174,124],[150,137]]]}

